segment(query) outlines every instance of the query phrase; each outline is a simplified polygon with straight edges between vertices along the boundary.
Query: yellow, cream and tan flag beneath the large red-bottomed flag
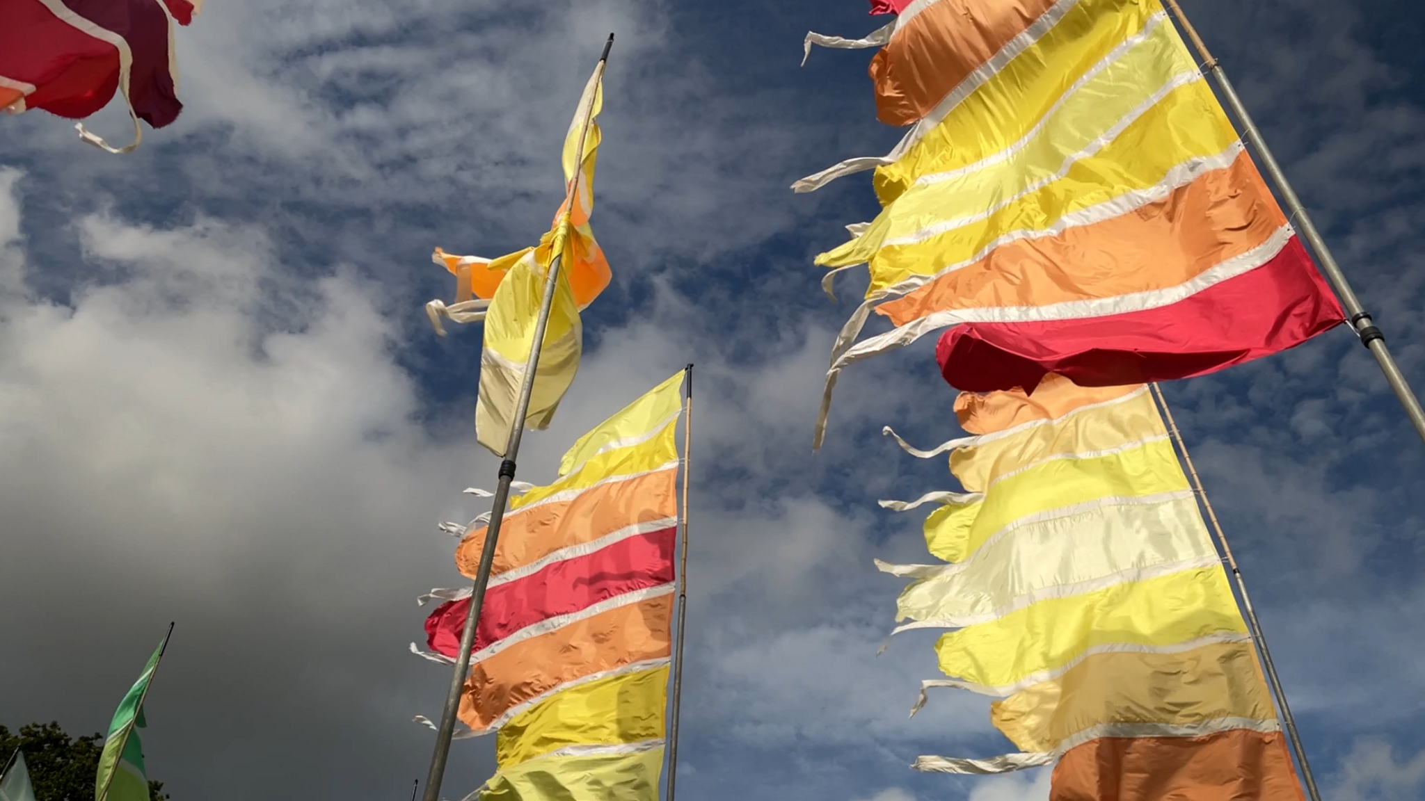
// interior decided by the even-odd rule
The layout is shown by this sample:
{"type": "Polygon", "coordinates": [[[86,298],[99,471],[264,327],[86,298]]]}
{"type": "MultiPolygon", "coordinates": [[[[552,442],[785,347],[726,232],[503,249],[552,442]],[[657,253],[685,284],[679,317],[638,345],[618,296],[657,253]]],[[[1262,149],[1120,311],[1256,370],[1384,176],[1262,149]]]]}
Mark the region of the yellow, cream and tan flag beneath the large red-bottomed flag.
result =
{"type": "MultiPolygon", "coordinates": [[[[1247,624],[1146,386],[960,395],[963,493],[923,503],[935,564],[896,629],[936,643],[953,687],[996,698],[1020,751],[921,757],[939,772],[1054,764],[1053,801],[1300,798],[1247,624]]],[[[884,502],[892,509],[915,503],[884,502]]],[[[919,708],[919,706],[916,707],[919,708]]]]}

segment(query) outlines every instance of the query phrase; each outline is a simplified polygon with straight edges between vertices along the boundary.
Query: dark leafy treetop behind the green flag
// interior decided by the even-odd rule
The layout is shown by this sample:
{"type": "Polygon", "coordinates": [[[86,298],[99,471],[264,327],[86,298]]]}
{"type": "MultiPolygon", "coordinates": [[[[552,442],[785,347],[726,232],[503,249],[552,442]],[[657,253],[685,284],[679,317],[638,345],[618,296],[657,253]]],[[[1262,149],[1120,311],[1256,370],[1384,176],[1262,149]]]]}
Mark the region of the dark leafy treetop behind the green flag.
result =
{"type": "MultiPolygon", "coordinates": [[[[24,751],[30,768],[36,801],[91,801],[98,757],[104,753],[104,735],[91,734],[70,740],[58,723],[21,725],[19,734],[0,725],[0,767],[10,761],[16,748],[24,751]]],[[[150,801],[168,801],[160,792],[161,781],[148,782],[150,801]]]]}

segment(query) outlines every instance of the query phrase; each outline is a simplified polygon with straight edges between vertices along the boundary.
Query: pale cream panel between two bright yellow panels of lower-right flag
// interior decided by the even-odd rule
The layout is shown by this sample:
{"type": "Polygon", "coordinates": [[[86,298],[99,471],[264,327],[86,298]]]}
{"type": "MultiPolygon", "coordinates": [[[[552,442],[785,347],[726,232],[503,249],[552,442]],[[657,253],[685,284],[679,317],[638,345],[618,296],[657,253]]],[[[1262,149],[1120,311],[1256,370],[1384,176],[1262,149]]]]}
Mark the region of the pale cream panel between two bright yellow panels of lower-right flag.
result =
{"type": "Polygon", "coordinates": [[[960,564],[881,569],[915,577],[896,601],[896,620],[953,629],[1035,600],[1216,562],[1197,502],[1184,492],[1029,523],[985,543],[960,564]]]}

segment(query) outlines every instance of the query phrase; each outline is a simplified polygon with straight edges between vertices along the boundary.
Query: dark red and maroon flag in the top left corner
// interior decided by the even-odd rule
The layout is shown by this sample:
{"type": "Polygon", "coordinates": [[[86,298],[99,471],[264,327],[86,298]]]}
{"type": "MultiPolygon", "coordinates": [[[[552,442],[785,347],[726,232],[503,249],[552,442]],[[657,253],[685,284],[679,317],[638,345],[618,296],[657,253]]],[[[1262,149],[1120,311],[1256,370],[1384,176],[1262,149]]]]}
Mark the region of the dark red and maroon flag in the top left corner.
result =
{"type": "Polygon", "coordinates": [[[201,0],[4,0],[0,3],[0,110],[43,108],[84,118],[118,90],[134,120],[134,144],[111,148],[84,131],[84,140],[110,153],[138,147],[142,120],[154,128],[172,123],[178,103],[178,61],[172,23],[187,26],[201,0]]]}

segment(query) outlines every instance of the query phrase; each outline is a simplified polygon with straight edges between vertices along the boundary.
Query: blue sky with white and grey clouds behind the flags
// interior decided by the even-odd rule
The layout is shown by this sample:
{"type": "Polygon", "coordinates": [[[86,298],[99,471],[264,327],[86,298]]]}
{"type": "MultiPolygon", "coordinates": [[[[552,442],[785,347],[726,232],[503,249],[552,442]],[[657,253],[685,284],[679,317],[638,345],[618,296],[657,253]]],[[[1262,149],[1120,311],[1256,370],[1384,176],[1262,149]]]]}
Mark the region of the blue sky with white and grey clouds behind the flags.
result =
{"type": "MultiPolygon", "coordinates": [[[[1405,375],[1425,389],[1425,13],[1405,0],[1184,0],[1405,375]]],[[[959,433],[933,338],[846,369],[865,279],[815,254],[876,204],[788,185],[899,131],[875,121],[861,0],[214,0],[180,30],[175,124],[131,155],[0,120],[0,724],[107,728],[168,621],[150,775],[177,801],[400,800],[446,668],[416,596],[459,586],[436,529],[484,506],[479,328],[436,338],[429,261],[533,244],[608,31],[594,231],[614,284],[519,477],[694,362],[684,801],[1039,801],[1047,771],[916,774],[1012,750],[946,694],[933,633],[895,639],[949,489],[881,435],[959,433]]],[[[111,105],[88,127],[127,131],[111,105]]],[[[127,141],[127,140],[124,140],[127,141]]],[[[1345,329],[1166,385],[1331,801],[1425,797],[1425,448],[1345,329]]],[[[493,770],[456,743],[446,798],[493,770]]]]}

